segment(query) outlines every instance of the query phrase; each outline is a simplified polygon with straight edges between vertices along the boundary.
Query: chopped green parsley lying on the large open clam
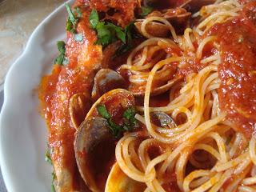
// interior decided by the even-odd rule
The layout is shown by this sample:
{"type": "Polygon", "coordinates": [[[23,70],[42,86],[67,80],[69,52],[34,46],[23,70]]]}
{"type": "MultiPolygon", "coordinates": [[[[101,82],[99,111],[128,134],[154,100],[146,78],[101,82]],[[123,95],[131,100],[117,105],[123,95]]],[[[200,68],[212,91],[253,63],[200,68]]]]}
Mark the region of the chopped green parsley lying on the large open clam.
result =
{"type": "Polygon", "coordinates": [[[110,131],[115,138],[119,138],[124,131],[133,130],[134,126],[136,125],[136,119],[134,118],[136,111],[134,110],[134,107],[128,108],[123,113],[122,117],[124,118],[124,122],[122,123],[121,126],[117,125],[113,121],[109,112],[106,110],[106,106],[98,105],[97,110],[98,110],[98,114],[100,114],[102,118],[106,118],[110,131]]]}

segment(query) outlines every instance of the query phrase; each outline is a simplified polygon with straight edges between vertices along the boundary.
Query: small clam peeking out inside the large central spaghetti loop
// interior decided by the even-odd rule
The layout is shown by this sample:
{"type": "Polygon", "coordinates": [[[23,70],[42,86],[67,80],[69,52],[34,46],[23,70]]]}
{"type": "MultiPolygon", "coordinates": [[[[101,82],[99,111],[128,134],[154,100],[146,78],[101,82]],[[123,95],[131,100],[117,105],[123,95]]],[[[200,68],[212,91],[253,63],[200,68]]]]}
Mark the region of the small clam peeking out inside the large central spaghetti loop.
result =
{"type": "Polygon", "coordinates": [[[164,112],[152,112],[150,114],[150,118],[151,122],[153,122],[156,126],[168,126],[170,129],[177,127],[174,119],[164,112]]]}

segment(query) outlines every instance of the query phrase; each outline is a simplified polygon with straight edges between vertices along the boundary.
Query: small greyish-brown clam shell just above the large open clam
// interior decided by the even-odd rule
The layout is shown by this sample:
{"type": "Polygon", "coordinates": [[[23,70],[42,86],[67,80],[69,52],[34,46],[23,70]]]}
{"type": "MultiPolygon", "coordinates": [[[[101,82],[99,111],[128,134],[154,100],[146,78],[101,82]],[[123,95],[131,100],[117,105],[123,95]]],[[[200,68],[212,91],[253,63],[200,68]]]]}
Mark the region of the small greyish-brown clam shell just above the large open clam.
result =
{"type": "Polygon", "coordinates": [[[126,81],[120,74],[110,69],[99,70],[94,78],[92,98],[97,100],[102,94],[117,88],[125,88],[126,81]]]}

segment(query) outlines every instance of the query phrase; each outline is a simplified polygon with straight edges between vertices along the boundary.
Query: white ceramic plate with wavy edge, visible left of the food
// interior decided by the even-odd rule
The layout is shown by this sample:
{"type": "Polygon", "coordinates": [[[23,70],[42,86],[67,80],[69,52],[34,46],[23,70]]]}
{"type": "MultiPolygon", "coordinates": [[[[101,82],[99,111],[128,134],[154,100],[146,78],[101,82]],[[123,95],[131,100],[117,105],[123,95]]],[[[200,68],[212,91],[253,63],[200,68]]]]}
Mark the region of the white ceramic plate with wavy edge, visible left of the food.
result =
{"type": "MultiPolygon", "coordinates": [[[[72,3],[72,1],[70,1],[72,3]]],[[[65,39],[66,9],[60,6],[31,35],[24,53],[6,75],[0,116],[0,163],[10,192],[50,191],[51,167],[44,161],[46,124],[38,114],[36,91],[65,39]]]]}

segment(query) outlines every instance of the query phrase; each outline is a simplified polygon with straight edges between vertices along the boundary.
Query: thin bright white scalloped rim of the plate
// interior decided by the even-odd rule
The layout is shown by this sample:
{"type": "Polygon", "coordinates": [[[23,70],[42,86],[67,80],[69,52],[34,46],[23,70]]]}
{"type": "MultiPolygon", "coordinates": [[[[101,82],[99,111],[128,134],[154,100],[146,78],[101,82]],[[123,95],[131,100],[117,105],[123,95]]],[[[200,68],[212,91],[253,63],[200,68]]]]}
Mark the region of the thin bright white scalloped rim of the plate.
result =
{"type": "MultiPolygon", "coordinates": [[[[6,79],[5,79],[5,83],[2,84],[0,86],[0,90],[3,86],[3,90],[4,90],[4,98],[6,98],[3,102],[3,105],[2,105],[2,110],[1,110],[1,113],[0,113],[0,134],[1,134],[1,130],[2,130],[2,122],[3,122],[3,119],[2,119],[2,114],[4,113],[4,111],[6,110],[6,103],[7,103],[7,100],[8,100],[8,95],[10,94],[9,92],[6,91],[6,85],[8,84],[8,82],[10,81],[10,74],[12,73],[12,71],[14,70],[14,68],[18,65],[19,61],[27,54],[27,50],[29,50],[30,46],[31,46],[31,42],[34,40],[34,37],[36,36],[36,34],[38,34],[38,31],[40,28],[42,28],[42,26],[46,25],[46,22],[48,22],[51,18],[54,17],[54,14],[57,14],[60,10],[62,10],[62,8],[65,6],[65,3],[70,3],[70,2],[73,2],[74,0],[69,0],[69,1],[66,1],[64,3],[62,3],[61,6],[58,6],[57,9],[55,9],[53,12],[51,12],[45,19],[42,20],[42,22],[39,23],[39,25],[34,29],[33,33],[30,35],[30,38],[28,39],[28,41],[26,42],[26,47],[25,49],[23,50],[22,54],[15,60],[15,62],[10,66],[10,69],[8,70],[7,74],[6,74],[6,79]]],[[[0,4],[1,6],[1,4],[0,4]]],[[[12,181],[11,181],[11,177],[10,177],[10,174],[6,174],[6,170],[7,170],[7,167],[6,167],[6,164],[5,164],[5,158],[4,158],[4,155],[2,153],[2,142],[0,140],[0,167],[1,167],[1,170],[2,170],[2,178],[5,182],[5,185],[6,185],[6,189],[7,191],[12,191],[12,181]],[[5,166],[3,166],[5,165],[5,166]]]]}

